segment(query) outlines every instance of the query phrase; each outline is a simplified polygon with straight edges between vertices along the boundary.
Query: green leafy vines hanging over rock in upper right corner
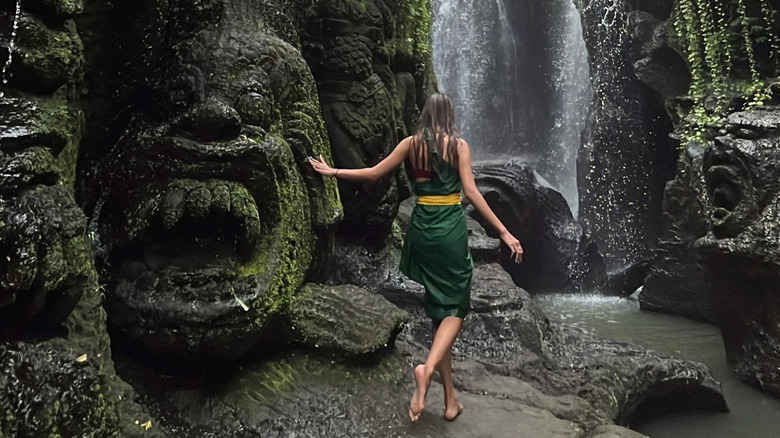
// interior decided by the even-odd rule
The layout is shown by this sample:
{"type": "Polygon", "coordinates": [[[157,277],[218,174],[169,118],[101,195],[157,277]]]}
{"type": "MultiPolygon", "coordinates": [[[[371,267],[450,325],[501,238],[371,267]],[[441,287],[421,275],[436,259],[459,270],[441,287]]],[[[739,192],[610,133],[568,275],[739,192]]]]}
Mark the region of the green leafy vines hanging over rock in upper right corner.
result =
{"type": "Polygon", "coordinates": [[[769,74],[777,74],[780,42],[772,32],[775,11],[768,0],[757,1],[760,16],[753,17],[745,0],[676,0],[670,42],[691,72],[692,105],[682,114],[682,144],[703,141],[711,126],[736,109],[730,103],[732,94],[741,96],[742,109],[766,101],[756,47],[768,46],[774,70],[769,74]]]}

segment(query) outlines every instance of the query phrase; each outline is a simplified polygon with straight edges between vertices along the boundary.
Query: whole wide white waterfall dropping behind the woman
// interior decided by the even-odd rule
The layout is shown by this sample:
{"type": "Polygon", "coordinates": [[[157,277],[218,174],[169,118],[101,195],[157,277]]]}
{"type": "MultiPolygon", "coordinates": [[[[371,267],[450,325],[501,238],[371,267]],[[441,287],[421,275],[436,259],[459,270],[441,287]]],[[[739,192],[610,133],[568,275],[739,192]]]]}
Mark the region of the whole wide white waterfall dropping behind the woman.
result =
{"type": "Polygon", "coordinates": [[[477,159],[519,157],[577,211],[576,156],[591,102],[571,0],[433,0],[433,66],[477,159]]]}

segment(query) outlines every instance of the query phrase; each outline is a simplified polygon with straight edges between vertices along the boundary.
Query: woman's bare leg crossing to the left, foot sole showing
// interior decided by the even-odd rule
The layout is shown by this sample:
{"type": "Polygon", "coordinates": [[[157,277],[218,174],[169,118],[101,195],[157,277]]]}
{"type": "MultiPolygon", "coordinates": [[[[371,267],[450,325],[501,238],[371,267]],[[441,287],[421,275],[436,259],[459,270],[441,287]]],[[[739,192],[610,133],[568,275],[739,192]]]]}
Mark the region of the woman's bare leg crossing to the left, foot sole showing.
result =
{"type": "MultiPolygon", "coordinates": [[[[433,373],[445,360],[447,360],[445,365],[446,379],[449,381],[449,385],[452,385],[452,345],[455,343],[455,338],[458,337],[461,327],[463,327],[462,318],[449,316],[444,318],[438,327],[434,328],[433,343],[431,351],[428,352],[428,358],[424,364],[417,365],[414,369],[414,379],[417,386],[412,395],[412,401],[409,403],[409,417],[412,421],[417,421],[420,417],[425,407],[425,395],[431,384],[433,373]]],[[[442,374],[442,383],[444,384],[444,382],[445,376],[442,374]]],[[[451,386],[451,388],[452,390],[448,392],[454,396],[454,387],[451,386]]],[[[447,390],[446,387],[445,390],[447,390]]]]}

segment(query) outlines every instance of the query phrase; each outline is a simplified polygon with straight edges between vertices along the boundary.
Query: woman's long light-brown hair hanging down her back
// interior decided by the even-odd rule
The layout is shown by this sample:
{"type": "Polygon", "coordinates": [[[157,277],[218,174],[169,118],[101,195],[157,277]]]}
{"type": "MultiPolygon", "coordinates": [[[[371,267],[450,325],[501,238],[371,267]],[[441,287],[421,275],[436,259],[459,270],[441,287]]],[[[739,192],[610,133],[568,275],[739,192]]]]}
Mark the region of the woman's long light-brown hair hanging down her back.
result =
{"type": "Polygon", "coordinates": [[[452,101],[446,95],[434,93],[428,96],[425,101],[415,140],[425,142],[426,130],[433,136],[439,156],[446,158],[447,162],[456,166],[458,163],[458,133],[455,130],[455,113],[452,109],[452,101]],[[444,144],[445,138],[448,139],[446,145],[444,144]]]}

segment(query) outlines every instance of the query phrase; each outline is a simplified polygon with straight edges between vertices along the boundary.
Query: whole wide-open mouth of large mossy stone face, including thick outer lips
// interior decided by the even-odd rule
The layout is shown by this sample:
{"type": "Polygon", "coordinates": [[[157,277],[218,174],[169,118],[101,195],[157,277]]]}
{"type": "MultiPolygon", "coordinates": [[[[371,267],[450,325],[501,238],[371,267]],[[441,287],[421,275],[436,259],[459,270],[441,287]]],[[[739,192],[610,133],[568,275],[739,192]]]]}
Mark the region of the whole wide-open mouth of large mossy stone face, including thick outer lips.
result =
{"type": "Polygon", "coordinates": [[[272,188],[288,177],[277,154],[289,151],[240,135],[125,141],[127,153],[107,163],[99,219],[109,324],[147,352],[232,355],[251,345],[279,264],[282,200],[272,188]]]}

